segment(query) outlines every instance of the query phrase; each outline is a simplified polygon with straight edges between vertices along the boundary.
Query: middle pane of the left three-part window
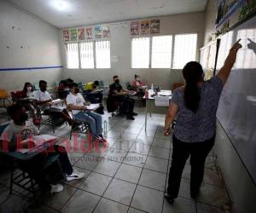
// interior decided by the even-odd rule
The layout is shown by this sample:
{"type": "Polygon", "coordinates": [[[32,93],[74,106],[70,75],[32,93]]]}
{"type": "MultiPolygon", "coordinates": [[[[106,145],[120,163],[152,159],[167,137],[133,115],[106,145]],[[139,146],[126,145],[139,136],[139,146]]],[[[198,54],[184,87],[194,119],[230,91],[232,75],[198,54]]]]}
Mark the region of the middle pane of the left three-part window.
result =
{"type": "Polygon", "coordinates": [[[93,42],[80,43],[81,68],[94,68],[93,42]]]}

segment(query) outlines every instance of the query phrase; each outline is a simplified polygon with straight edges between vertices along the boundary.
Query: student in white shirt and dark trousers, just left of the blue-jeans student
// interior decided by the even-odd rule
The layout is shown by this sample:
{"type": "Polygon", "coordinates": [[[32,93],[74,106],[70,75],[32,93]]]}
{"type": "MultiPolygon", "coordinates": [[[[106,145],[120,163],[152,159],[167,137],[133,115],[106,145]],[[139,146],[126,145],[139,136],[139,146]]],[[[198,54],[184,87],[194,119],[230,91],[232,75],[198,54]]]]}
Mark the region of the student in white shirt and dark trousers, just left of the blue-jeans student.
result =
{"type": "Polygon", "coordinates": [[[44,80],[39,81],[40,90],[36,91],[34,97],[36,99],[36,104],[38,105],[38,116],[40,116],[40,110],[44,110],[44,114],[49,114],[49,109],[55,109],[50,111],[51,115],[54,118],[62,118],[67,121],[68,124],[72,124],[73,120],[69,117],[69,114],[66,109],[61,109],[52,105],[52,98],[49,93],[46,91],[47,82],[44,80]]]}

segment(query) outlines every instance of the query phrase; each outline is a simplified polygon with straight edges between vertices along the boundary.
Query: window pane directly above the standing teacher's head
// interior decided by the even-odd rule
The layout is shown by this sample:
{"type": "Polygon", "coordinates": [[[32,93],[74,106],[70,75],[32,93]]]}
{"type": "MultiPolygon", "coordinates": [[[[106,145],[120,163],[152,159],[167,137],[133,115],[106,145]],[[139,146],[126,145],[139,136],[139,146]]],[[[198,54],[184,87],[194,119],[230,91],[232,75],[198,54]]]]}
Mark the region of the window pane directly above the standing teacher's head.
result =
{"type": "Polygon", "coordinates": [[[174,40],[173,68],[181,69],[196,55],[196,34],[176,35],[174,40]]]}

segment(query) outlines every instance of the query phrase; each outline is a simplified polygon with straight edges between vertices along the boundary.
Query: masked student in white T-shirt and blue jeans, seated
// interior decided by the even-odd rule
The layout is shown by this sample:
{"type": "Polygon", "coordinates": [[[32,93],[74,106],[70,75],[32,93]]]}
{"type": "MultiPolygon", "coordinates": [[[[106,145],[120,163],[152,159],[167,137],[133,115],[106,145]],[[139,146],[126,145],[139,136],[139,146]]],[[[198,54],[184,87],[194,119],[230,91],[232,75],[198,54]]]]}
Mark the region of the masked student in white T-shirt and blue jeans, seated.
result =
{"type": "Polygon", "coordinates": [[[85,111],[86,102],[79,93],[79,85],[71,83],[70,94],[67,95],[67,107],[72,110],[73,117],[83,123],[89,123],[90,131],[97,141],[105,142],[102,136],[102,116],[96,112],[85,111]]]}

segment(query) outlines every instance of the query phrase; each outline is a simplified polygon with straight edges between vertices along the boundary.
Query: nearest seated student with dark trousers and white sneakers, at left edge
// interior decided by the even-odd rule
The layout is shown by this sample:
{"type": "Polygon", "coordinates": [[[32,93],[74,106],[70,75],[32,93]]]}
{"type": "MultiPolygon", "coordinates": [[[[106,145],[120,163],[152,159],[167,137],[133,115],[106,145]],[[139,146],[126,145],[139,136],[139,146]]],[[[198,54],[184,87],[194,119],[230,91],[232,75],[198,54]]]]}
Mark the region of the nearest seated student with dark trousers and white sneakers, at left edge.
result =
{"type": "MultiPolygon", "coordinates": [[[[32,124],[32,122],[27,120],[27,114],[24,107],[20,105],[13,105],[8,108],[9,116],[12,118],[12,122],[9,126],[3,130],[0,140],[2,142],[8,143],[9,151],[15,151],[17,148],[18,141],[24,141],[34,135],[38,135],[38,129],[32,124]]],[[[22,143],[22,148],[30,147],[29,143],[22,143]]],[[[34,146],[34,144],[32,144],[34,146]]],[[[65,147],[54,145],[54,153],[59,154],[59,160],[61,164],[61,169],[66,175],[67,181],[72,181],[75,179],[81,179],[84,177],[84,173],[79,173],[73,170],[72,165],[67,157],[67,152],[65,147]]],[[[48,154],[51,154],[48,152],[48,154]]],[[[44,153],[39,153],[35,158],[20,162],[20,166],[37,181],[38,185],[44,191],[50,191],[51,193],[61,192],[63,186],[61,184],[51,185],[49,181],[45,179],[45,174],[43,172],[43,159],[46,156],[44,153]]],[[[19,162],[18,162],[19,163],[19,162]]]]}

